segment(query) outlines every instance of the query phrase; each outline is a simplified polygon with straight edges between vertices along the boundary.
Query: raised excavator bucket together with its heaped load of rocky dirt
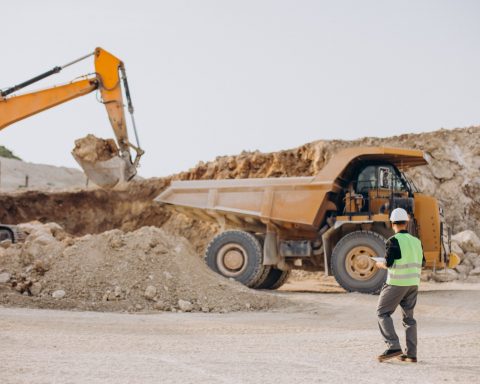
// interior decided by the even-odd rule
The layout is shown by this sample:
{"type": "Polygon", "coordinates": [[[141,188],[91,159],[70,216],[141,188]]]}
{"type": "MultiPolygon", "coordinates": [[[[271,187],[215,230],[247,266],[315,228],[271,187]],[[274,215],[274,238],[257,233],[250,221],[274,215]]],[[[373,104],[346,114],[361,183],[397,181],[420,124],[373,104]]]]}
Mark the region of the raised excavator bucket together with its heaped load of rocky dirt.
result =
{"type": "Polygon", "coordinates": [[[88,135],[75,141],[72,155],[88,179],[105,189],[128,181],[136,174],[130,157],[121,156],[113,139],[88,135]]]}

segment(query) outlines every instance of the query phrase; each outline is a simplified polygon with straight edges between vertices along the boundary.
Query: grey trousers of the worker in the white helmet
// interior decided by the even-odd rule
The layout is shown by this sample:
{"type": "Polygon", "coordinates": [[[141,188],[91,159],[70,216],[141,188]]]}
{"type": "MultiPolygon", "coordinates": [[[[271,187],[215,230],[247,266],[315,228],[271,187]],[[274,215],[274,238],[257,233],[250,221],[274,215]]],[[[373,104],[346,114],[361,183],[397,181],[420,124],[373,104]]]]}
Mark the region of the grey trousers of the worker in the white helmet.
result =
{"type": "Polygon", "coordinates": [[[399,287],[384,284],[378,298],[378,327],[388,349],[400,349],[400,341],[395,333],[391,315],[398,305],[402,308],[403,326],[407,339],[405,353],[417,357],[417,322],[413,318],[413,309],[417,304],[418,286],[399,287]]]}

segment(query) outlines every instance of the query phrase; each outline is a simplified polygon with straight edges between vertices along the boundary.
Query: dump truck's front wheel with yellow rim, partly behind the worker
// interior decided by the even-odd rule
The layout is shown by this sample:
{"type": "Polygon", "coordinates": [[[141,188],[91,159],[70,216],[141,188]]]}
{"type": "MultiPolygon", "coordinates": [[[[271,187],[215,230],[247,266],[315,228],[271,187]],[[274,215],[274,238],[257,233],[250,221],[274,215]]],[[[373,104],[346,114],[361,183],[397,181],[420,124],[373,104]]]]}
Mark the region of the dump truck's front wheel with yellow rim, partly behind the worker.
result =
{"type": "Polygon", "coordinates": [[[344,236],[333,249],[333,276],[348,292],[378,293],[387,271],[378,269],[371,257],[385,255],[385,238],[371,231],[355,231],[344,236]]]}

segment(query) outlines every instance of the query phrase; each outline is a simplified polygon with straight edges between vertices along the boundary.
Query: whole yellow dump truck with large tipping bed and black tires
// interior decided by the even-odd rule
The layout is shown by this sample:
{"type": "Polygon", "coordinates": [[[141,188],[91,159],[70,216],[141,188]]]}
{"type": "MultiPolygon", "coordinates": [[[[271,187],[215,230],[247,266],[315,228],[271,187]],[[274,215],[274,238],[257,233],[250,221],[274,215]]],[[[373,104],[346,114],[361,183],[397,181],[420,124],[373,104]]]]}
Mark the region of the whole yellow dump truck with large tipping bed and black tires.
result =
{"type": "Polygon", "coordinates": [[[387,272],[373,257],[385,255],[397,207],[409,213],[427,267],[458,262],[438,201],[404,173],[426,164],[420,150],[356,147],[313,177],[173,181],[156,201],[220,225],[205,261],[226,278],[275,289],[291,270],[324,271],[347,291],[376,293],[387,272]]]}

